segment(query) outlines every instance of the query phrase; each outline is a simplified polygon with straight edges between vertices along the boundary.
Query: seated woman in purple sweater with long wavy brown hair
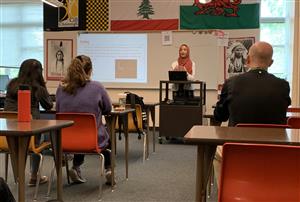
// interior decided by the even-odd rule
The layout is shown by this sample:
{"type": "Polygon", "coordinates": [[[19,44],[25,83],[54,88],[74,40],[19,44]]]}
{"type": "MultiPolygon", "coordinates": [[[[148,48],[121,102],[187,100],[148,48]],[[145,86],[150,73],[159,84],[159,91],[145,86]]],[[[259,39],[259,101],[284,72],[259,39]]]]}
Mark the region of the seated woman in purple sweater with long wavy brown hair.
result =
{"type": "MultiPolygon", "coordinates": [[[[88,56],[80,55],[71,61],[67,75],[56,91],[57,112],[87,112],[95,114],[98,123],[98,141],[100,148],[109,146],[109,134],[102,123],[102,115],[112,109],[111,100],[104,86],[91,81],[92,62],[88,56]]],[[[106,179],[111,182],[110,153],[103,152],[105,157],[106,179]]],[[[84,183],[80,166],[84,162],[83,154],[75,154],[73,167],[70,170],[71,180],[75,183],[84,183]]]]}

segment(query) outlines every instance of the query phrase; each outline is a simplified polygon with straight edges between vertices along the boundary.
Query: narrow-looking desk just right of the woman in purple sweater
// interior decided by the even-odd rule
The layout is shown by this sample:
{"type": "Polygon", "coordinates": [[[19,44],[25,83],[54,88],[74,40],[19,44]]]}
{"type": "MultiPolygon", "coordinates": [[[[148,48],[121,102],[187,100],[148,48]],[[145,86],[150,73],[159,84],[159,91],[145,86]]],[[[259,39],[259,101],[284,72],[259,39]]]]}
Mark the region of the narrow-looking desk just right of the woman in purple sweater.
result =
{"type": "Polygon", "coordinates": [[[116,120],[121,117],[123,120],[123,129],[125,136],[125,165],[126,165],[126,179],[128,180],[128,113],[135,111],[135,109],[124,109],[122,111],[111,111],[108,115],[105,115],[106,124],[110,131],[111,139],[111,178],[112,178],[112,190],[114,189],[115,181],[115,160],[116,160],[116,120]]]}

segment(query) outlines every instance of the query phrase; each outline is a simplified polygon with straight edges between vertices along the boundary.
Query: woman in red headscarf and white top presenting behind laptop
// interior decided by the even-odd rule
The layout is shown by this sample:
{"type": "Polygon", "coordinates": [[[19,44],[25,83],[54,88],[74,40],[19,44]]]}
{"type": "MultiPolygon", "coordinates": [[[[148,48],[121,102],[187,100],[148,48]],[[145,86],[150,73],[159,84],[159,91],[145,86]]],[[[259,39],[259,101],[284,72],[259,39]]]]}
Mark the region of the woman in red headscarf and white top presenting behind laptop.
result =
{"type": "MultiPolygon", "coordinates": [[[[195,77],[195,62],[190,59],[190,48],[186,44],[182,44],[179,47],[179,57],[171,65],[173,71],[185,71],[187,72],[187,80],[193,81],[195,77]]],[[[189,84],[185,85],[173,85],[173,97],[192,97],[193,88],[189,84]],[[185,93],[186,92],[186,93],[185,93]]]]}

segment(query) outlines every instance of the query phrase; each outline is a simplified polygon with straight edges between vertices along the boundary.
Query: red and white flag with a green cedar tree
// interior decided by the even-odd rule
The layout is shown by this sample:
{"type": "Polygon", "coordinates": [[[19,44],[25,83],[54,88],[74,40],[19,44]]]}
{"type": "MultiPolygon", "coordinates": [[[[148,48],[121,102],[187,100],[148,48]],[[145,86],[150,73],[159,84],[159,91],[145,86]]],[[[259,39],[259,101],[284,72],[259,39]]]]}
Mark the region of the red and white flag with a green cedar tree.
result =
{"type": "Polygon", "coordinates": [[[191,0],[110,0],[111,31],[178,30],[179,9],[191,0]]]}

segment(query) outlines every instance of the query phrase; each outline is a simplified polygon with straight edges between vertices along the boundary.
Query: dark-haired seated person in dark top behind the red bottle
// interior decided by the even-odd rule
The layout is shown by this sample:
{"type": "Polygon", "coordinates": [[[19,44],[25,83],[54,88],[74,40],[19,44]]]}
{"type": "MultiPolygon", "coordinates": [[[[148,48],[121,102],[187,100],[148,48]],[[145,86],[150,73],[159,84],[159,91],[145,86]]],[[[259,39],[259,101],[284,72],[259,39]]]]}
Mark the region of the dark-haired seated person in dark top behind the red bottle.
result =
{"type": "MultiPolygon", "coordinates": [[[[39,105],[46,110],[50,110],[53,107],[42,72],[42,64],[35,59],[25,60],[21,64],[18,77],[12,79],[7,85],[7,93],[4,102],[5,111],[18,111],[18,88],[21,84],[28,85],[31,89],[31,114],[33,119],[40,118],[39,105]]],[[[39,137],[36,139],[39,139],[39,137]]],[[[29,186],[35,186],[36,184],[39,162],[39,155],[32,154],[31,179],[28,183],[29,186]]],[[[47,177],[42,176],[40,184],[46,182],[47,177]]]]}

